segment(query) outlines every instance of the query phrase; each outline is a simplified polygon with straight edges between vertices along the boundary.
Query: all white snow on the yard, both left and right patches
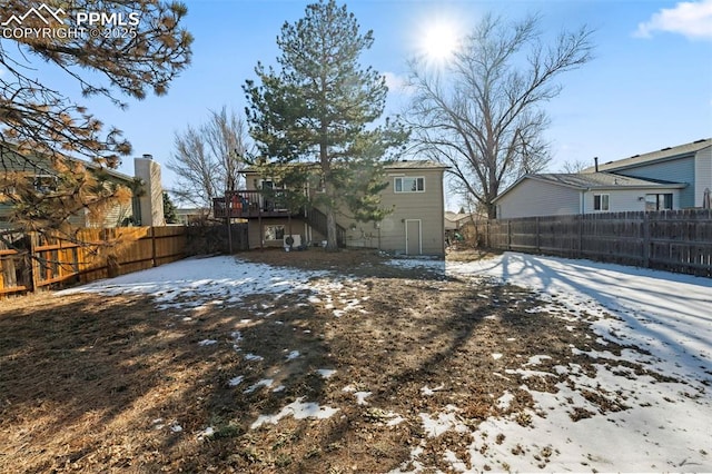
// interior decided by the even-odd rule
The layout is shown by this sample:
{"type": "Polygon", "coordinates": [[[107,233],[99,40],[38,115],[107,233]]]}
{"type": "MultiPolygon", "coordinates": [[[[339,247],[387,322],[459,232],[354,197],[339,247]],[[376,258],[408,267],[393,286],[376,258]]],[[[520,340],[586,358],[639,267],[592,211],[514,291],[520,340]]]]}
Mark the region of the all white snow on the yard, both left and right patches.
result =
{"type": "MultiPolygon", "coordinates": [[[[551,303],[538,310],[560,310],[563,305],[568,309],[568,317],[586,312],[589,318],[593,315],[593,328],[602,340],[643,349],[625,349],[620,356],[609,352],[587,353],[601,361],[595,377],[584,374],[575,364],[555,366],[556,375],[566,374],[566,383],[560,383],[554,394],[522,387],[531,392],[536,403],[534,411],[518,415],[528,417],[531,423],[501,417],[485,421],[475,428],[474,442],[467,447],[473,465],[557,472],[712,471],[712,280],[513,253],[446,266],[433,260],[394,259],[392,264],[528,287],[540,293],[542,300],[551,303]],[[635,374],[626,362],[643,364],[672,378],[661,381],[649,374],[635,374]],[[589,387],[610,394],[612,404],[624,399],[626,408],[596,414],[599,405],[582,396],[589,387]],[[564,408],[573,404],[595,416],[573,422],[564,408]],[[495,437],[500,438],[497,443],[493,442],[495,437]],[[485,442],[487,446],[483,448],[485,442]]],[[[364,313],[360,303],[368,298],[367,288],[348,276],[276,268],[230,257],[181,260],[60,295],[76,292],[148,294],[167,312],[201,310],[211,305],[237,304],[254,293],[271,294],[274,303],[265,305],[265,316],[280,295],[304,294],[306,300],[323,302],[333,308],[335,318],[348,312],[364,313]],[[328,278],[320,278],[325,276],[328,278]]],[[[238,336],[236,333],[236,345],[238,336]]],[[[572,352],[576,350],[581,349],[572,347],[572,352]]],[[[508,371],[527,377],[546,377],[546,372],[537,371],[546,357],[547,354],[540,354],[508,371]]],[[[328,368],[323,372],[325,377],[330,374],[328,368]]],[[[235,385],[240,381],[239,375],[236,376],[235,385]]],[[[437,387],[424,387],[423,396],[434,389],[437,387]]],[[[497,403],[506,406],[510,399],[511,395],[505,394],[497,403]]],[[[354,403],[366,401],[367,395],[360,394],[354,403]]],[[[276,424],[289,415],[326,417],[337,409],[299,399],[277,414],[260,416],[254,426],[276,424]]],[[[458,411],[456,406],[448,406],[443,413],[421,414],[424,432],[438,436],[448,429],[472,431],[461,422],[458,411]]],[[[399,414],[392,415],[393,423],[402,419],[399,414]]],[[[421,451],[421,447],[413,450],[407,472],[428,467],[419,461],[421,451]]],[[[453,470],[466,470],[464,460],[455,453],[446,453],[446,458],[453,470]]],[[[402,470],[406,470],[406,465],[402,470]]]]}

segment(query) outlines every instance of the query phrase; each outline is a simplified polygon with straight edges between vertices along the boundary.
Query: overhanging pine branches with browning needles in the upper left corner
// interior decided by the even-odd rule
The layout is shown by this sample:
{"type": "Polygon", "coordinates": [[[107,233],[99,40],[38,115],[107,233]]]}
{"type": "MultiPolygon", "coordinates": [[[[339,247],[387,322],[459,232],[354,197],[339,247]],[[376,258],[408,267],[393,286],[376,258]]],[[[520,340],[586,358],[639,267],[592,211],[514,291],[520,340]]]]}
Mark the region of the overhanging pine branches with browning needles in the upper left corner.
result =
{"type": "Polygon", "coordinates": [[[165,95],[190,59],[192,38],[180,23],[186,13],[180,2],[157,0],[3,2],[3,20],[56,31],[0,42],[0,191],[13,204],[16,228],[71,236],[72,214],[86,210],[100,223],[107,209],[130,200],[129,188],[106,172],[131,152],[130,144],[65,96],[52,77],[38,78],[34,63],[57,67],[85,96],[102,96],[118,107],[126,107],[122,96],[165,95]],[[39,10],[49,20],[29,14],[39,10]],[[126,34],[81,32],[81,13],[98,10],[131,19],[126,34]],[[37,186],[33,176],[51,182],[37,186]]]}

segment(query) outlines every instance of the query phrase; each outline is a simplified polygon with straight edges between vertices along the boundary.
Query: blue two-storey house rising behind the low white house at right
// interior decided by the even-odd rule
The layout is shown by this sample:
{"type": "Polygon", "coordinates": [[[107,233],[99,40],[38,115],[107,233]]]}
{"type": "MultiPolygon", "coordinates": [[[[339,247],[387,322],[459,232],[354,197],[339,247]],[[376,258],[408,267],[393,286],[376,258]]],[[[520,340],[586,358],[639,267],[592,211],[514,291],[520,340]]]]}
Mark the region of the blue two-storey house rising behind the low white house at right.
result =
{"type": "Polygon", "coordinates": [[[685,184],[675,209],[702,207],[704,190],[712,189],[712,138],[609,161],[584,172],[605,171],[642,179],[685,184]]]}

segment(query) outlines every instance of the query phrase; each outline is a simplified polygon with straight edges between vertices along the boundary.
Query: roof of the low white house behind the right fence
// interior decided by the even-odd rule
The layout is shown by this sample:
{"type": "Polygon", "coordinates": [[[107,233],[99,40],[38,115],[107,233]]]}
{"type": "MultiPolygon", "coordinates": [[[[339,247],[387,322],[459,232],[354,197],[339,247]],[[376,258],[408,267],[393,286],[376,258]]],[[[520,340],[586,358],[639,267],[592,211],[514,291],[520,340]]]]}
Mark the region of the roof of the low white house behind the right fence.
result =
{"type": "Polygon", "coordinates": [[[631,178],[629,176],[614,175],[612,172],[548,172],[538,175],[524,175],[523,177],[517,179],[514,185],[510,186],[504,192],[497,196],[494,200],[496,201],[502,198],[525,179],[534,179],[536,181],[550,182],[552,185],[564,186],[567,188],[580,190],[651,188],[676,189],[688,186],[684,182],[631,178]]]}

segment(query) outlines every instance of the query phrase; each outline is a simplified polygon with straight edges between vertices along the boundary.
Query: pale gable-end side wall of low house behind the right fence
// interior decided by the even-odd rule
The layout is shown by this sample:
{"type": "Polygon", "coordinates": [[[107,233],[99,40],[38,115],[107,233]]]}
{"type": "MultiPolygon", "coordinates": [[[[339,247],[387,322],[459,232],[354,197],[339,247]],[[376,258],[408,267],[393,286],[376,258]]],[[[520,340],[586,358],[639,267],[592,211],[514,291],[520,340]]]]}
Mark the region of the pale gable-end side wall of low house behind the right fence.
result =
{"type": "Polygon", "coordinates": [[[501,219],[580,213],[581,191],[578,189],[535,179],[524,179],[497,200],[497,217],[501,219]]]}

